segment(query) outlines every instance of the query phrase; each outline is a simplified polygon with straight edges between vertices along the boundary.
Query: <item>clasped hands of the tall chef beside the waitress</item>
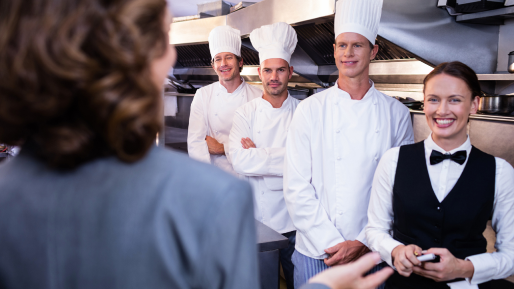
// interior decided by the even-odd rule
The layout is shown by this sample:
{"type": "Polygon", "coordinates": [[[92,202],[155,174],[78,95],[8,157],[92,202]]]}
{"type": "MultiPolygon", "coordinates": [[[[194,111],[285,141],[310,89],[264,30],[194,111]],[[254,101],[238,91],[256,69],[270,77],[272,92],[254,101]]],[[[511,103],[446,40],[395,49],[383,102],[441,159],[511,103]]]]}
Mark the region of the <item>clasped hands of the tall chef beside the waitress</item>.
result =
{"type": "Polygon", "coordinates": [[[361,242],[348,240],[325,249],[325,253],[330,256],[323,261],[327,266],[346,264],[357,260],[369,251],[370,249],[361,242]]]}

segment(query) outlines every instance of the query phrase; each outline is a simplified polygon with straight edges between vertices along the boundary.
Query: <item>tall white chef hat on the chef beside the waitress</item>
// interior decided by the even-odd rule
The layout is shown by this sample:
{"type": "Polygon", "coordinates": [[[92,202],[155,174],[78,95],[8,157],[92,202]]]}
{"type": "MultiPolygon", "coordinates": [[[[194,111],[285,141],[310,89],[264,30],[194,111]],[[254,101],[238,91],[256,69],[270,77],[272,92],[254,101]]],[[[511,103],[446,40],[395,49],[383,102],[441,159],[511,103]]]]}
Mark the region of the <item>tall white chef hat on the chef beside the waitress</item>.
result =
{"type": "Polygon", "coordinates": [[[339,0],[336,4],[336,38],[344,32],[359,33],[375,44],[383,0],[339,0]]]}

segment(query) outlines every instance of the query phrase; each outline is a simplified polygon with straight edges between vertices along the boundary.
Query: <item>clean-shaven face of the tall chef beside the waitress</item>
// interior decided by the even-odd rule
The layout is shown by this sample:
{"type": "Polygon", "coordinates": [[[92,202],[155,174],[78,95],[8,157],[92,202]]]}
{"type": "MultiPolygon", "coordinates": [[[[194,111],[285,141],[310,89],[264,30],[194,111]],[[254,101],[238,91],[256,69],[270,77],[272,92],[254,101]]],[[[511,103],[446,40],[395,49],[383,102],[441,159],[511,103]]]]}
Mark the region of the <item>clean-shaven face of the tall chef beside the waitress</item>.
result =
{"type": "Polygon", "coordinates": [[[378,52],[378,45],[370,47],[370,41],[354,32],[341,33],[334,44],[334,58],[339,74],[358,77],[369,71],[370,61],[378,52]]]}

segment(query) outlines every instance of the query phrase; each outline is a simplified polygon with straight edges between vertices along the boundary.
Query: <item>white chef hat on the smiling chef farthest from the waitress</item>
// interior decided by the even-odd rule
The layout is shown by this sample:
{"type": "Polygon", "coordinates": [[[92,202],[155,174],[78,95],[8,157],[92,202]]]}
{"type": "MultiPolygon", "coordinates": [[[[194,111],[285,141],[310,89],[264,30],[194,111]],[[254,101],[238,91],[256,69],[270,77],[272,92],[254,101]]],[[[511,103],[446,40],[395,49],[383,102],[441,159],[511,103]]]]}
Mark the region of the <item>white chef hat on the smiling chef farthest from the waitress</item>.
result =
{"type": "Polygon", "coordinates": [[[209,33],[209,50],[211,50],[211,59],[221,52],[241,56],[241,31],[228,25],[212,29],[209,33]]]}

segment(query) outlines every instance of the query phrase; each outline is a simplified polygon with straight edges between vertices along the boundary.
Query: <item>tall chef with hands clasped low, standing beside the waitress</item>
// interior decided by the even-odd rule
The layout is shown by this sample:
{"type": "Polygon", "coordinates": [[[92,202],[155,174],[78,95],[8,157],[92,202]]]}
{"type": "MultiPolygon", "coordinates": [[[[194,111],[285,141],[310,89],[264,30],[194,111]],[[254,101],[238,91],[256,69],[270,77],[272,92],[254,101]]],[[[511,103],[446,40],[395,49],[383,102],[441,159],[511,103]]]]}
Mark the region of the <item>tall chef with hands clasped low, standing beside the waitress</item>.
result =
{"type": "Polygon", "coordinates": [[[289,127],[284,197],[297,229],[295,287],[369,251],[364,227],[378,161],[414,142],[407,107],[369,79],[381,9],[382,0],[337,2],[339,79],[302,101],[289,127]]]}

